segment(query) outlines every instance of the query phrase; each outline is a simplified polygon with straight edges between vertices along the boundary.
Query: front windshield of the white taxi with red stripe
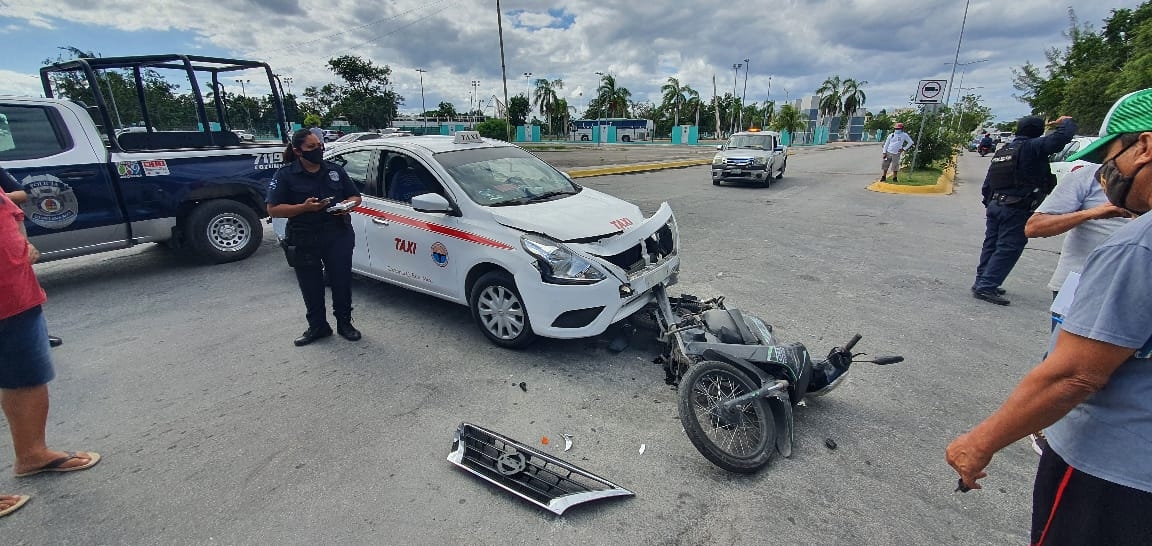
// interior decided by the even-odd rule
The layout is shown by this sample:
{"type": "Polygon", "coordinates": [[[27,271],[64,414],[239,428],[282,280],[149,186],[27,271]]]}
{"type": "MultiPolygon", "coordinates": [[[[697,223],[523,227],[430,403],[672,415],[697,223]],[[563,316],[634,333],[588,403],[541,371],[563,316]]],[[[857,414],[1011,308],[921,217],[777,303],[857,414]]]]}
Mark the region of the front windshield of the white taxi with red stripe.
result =
{"type": "Polygon", "coordinates": [[[510,206],[560,199],[581,188],[518,147],[480,147],[435,154],[460,189],[477,204],[510,206]]]}

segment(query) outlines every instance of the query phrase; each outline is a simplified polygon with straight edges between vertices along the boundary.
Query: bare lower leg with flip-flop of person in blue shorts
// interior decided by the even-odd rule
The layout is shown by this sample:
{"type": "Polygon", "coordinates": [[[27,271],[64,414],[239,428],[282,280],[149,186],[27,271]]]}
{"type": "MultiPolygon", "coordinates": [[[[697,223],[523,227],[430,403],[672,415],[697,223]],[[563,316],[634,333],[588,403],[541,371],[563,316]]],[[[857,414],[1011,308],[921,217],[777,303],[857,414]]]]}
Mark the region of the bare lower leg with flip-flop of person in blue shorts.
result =
{"type": "MultiPolygon", "coordinates": [[[[12,431],[12,445],[16,452],[13,470],[16,473],[38,469],[68,455],[48,449],[44,439],[44,430],[48,423],[47,385],[0,389],[0,405],[3,407],[3,415],[8,418],[8,429],[12,431]]],[[[91,461],[83,452],[76,455],[76,458],[61,464],[61,468],[79,467],[91,461]]]]}

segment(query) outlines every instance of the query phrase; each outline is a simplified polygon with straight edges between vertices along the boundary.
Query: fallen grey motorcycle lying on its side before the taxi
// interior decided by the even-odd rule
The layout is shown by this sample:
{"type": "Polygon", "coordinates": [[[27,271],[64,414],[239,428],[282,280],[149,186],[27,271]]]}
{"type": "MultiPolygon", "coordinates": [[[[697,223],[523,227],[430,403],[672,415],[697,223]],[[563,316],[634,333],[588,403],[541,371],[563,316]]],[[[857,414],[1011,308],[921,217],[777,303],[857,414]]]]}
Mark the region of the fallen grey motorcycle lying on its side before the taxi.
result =
{"type": "Polygon", "coordinates": [[[793,447],[793,407],[805,396],[823,396],[848,377],[852,363],[885,365],[901,356],[856,359],[856,334],[843,347],[813,362],[797,342],[781,343],[772,326],[723,296],[669,297],[657,288],[654,318],[666,342],[662,355],[668,382],[679,384],[679,412],[692,446],[730,472],[760,470],[775,452],[793,447]]]}

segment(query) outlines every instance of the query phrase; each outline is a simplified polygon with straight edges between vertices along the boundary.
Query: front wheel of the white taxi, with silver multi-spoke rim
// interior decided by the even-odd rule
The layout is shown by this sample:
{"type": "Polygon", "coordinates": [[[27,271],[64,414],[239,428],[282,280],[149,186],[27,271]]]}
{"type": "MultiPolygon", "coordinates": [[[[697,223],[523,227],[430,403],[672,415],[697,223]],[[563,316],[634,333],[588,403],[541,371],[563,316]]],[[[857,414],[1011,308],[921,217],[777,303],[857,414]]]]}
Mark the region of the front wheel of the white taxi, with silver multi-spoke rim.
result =
{"type": "Polygon", "coordinates": [[[493,271],[477,279],[469,304],[480,332],[493,343],[520,349],[536,339],[524,301],[508,273],[493,271]]]}

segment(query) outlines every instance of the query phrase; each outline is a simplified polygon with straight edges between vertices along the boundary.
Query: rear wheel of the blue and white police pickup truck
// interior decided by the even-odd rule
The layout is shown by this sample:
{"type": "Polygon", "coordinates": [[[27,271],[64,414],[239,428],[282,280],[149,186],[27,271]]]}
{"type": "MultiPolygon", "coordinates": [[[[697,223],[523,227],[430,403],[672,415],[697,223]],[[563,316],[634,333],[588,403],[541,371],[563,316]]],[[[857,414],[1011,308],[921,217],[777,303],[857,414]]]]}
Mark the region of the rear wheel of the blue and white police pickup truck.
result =
{"type": "Polygon", "coordinates": [[[248,258],[260,247],[264,228],[256,212],[232,199],[202,203],[188,215],[187,243],[197,258],[225,264],[248,258]]]}

